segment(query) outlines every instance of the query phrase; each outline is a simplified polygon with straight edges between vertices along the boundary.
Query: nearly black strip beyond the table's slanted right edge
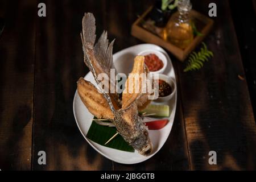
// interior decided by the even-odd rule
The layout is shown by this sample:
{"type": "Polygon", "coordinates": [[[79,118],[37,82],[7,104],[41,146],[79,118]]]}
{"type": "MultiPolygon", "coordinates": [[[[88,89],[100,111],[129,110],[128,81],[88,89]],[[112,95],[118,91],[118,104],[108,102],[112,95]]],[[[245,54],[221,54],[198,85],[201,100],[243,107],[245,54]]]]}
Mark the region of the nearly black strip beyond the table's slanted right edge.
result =
{"type": "Polygon", "coordinates": [[[251,104],[253,106],[254,115],[256,113],[256,1],[245,1],[241,5],[234,1],[230,1],[229,5],[232,9],[232,17],[236,28],[237,40],[242,56],[243,68],[247,86],[249,88],[251,104]],[[242,11],[240,11],[242,10],[242,11]],[[254,11],[255,10],[255,11],[254,11]]]}

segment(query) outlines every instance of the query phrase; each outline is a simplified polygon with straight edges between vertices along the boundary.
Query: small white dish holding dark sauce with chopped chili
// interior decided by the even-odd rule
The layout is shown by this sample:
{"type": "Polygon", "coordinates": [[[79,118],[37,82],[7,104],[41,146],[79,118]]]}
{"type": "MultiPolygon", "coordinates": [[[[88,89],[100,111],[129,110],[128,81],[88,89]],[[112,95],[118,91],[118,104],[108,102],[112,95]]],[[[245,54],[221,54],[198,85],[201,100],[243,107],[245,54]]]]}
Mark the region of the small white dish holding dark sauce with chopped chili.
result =
{"type": "Polygon", "coordinates": [[[168,96],[165,96],[165,97],[158,97],[154,101],[155,102],[166,102],[168,100],[171,100],[171,98],[175,96],[175,92],[176,92],[176,89],[177,89],[175,80],[173,78],[168,77],[168,76],[163,75],[163,74],[158,74],[158,79],[167,82],[167,84],[169,84],[172,88],[172,93],[168,96]]]}

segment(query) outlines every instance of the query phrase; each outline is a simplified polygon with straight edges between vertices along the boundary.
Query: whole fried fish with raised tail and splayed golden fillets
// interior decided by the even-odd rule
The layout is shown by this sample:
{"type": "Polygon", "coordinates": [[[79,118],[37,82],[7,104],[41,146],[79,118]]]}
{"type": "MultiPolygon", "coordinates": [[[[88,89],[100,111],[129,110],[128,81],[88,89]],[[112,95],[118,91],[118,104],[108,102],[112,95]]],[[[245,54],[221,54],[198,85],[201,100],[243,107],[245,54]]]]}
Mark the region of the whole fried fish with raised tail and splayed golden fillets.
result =
{"type": "MultiPolygon", "coordinates": [[[[95,31],[96,26],[93,14],[85,13],[82,19],[81,32],[84,62],[92,72],[101,93],[98,93],[90,82],[80,78],[77,82],[79,96],[90,113],[99,118],[111,119],[118,133],[127,143],[133,146],[140,154],[149,155],[152,152],[152,143],[148,136],[147,127],[138,114],[138,107],[146,106],[149,101],[145,99],[144,94],[126,94],[123,95],[123,106],[121,107],[115,94],[109,94],[101,88],[97,75],[100,73],[109,75],[110,69],[114,67],[112,58],[113,42],[109,44],[107,34],[103,32],[94,46],[95,31]],[[128,99],[130,97],[132,99],[128,99]]],[[[144,56],[135,57],[133,72],[146,73],[147,70],[144,64],[144,56]]]]}

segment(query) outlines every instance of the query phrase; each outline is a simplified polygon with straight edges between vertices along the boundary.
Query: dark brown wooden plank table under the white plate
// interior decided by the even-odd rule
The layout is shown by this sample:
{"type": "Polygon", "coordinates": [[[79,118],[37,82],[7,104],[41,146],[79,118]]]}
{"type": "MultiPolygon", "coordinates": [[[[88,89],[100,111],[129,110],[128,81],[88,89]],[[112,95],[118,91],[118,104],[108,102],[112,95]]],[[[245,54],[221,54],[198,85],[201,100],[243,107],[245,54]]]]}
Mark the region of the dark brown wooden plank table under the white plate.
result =
{"type": "Polygon", "coordinates": [[[214,58],[198,72],[171,54],[178,81],[174,126],[163,148],[146,162],[122,165],[104,158],[82,137],[73,117],[76,81],[88,69],[80,41],[84,12],[96,16],[97,34],[108,30],[114,51],[142,43],[131,24],[152,2],[0,1],[6,27],[0,38],[0,169],[256,169],[256,127],[229,1],[192,1],[208,14],[217,4],[205,39],[214,58]],[[38,151],[47,164],[38,164],[38,151]],[[217,165],[208,163],[217,152],[217,165]]]}

